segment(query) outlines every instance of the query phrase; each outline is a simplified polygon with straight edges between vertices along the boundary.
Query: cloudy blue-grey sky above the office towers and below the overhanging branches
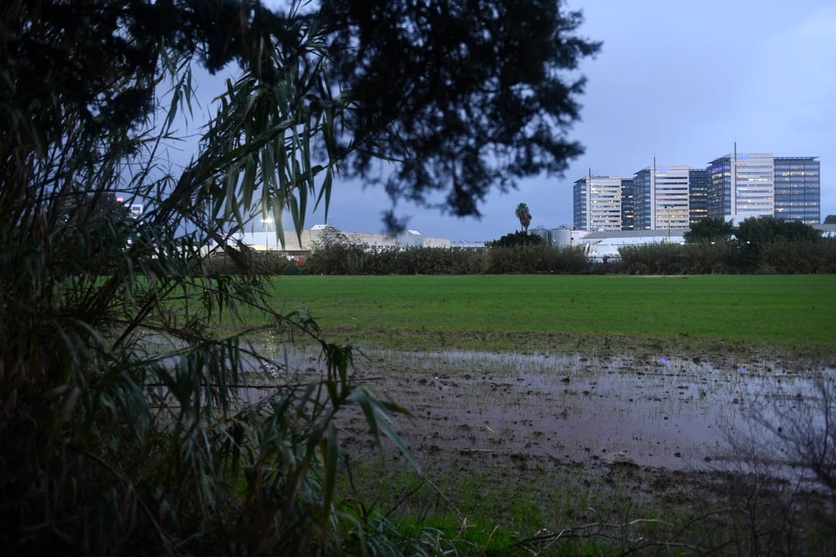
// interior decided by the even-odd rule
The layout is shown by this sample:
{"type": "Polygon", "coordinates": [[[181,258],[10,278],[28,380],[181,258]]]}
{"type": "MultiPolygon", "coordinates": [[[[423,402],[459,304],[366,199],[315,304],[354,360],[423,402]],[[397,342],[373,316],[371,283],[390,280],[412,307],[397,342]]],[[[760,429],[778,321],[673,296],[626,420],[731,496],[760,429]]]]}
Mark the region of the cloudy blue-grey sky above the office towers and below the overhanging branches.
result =
{"type": "MultiPolygon", "coordinates": [[[[836,214],[836,3],[833,0],[568,0],[583,10],[579,35],[603,41],[579,68],[587,79],[580,121],[568,131],[586,151],[563,177],[520,181],[480,205],[481,218],[399,203],[408,228],[451,241],[494,240],[519,230],[572,225],[572,184],[632,177],[653,164],[705,168],[732,153],[816,156],[822,219],[836,214]]],[[[577,75],[577,74],[576,74],[577,75]]],[[[575,75],[575,77],[576,77],[575,75]]],[[[335,180],[328,223],[380,232],[390,200],[380,187],[335,180]]],[[[324,211],[305,227],[325,222],[324,211]]],[[[286,228],[291,226],[288,222],[286,228]]]]}

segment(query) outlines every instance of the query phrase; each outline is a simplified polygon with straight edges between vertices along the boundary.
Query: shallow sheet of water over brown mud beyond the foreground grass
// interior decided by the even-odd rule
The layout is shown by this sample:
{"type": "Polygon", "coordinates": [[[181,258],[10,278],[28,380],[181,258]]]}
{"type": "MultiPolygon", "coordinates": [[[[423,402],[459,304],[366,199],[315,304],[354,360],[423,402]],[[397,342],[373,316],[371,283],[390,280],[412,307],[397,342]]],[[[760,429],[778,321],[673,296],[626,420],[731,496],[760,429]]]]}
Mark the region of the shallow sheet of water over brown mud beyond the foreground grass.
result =
{"type": "MultiPolygon", "coordinates": [[[[640,466],[705,469],[733,458],[729,439],[764,438],[785,413],[813,412],[832,367],[793,361],[684,359],[664,354],[369,352],[355,377],[407,408],[395,431],[424,453],[495,453],[590,466],[624,453],[640,466]],[[730,437],[731,436],[731,437],[730,437]]],[[[297,353],[288,366],[319,372],[297,353]]],[[[347,420],[344,443],[368,447],[363,423],[347,420]]]]}

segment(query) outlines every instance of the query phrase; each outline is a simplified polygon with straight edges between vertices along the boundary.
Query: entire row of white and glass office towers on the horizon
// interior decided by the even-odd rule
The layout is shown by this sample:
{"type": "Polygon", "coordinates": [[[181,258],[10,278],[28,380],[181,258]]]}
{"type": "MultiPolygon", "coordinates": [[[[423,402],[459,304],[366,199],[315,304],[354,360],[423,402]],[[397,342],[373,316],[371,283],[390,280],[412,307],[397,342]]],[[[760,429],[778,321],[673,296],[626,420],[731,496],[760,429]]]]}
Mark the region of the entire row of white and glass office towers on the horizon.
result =
{"type": "Polygon", "coordinates": [[[580,230],[683,230],[706,217],[734,223],[775,216],[818,224],[818,157],[726,154],[705,169],[648,166],[633,178],[584,176],[573,186],[573,227],[580,230]],[[619,228],[620,227],[620,228],[619,228]]]}

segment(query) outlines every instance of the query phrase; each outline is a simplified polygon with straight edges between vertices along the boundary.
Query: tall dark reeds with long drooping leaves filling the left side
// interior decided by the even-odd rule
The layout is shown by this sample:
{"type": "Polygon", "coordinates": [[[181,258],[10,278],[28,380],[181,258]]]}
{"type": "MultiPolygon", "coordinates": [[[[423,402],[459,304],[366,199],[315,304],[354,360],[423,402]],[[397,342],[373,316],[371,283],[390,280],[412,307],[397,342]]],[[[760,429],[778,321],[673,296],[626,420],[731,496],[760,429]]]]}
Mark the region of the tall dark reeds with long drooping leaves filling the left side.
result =
{"type": "MultiPolygon", "coordinates": [[[[268,306],[259,273],[278,270],[273,254],[228,241],[264,206],[257,188],[281,210],[314,187],[313,172],[294,169],[329,131],[276,95],[324,90],[321,67],[305,81],[259,72],[325,53],[292,14],[282,29],[295,45],[241,29],[258,56],[226,51],[201,18],[252,12],[210,4],[0,4],[3,554],[362,553],[384,537],[380,517],[334,489],[334,420],[359,408],[380,438],[400,408],[354,384],[350,347],[325,342],[304,312],[268,306]],[[235,59],[243,74],[177,166],[160,154],[190,113],[204,48],[204,62],[235,59]],[[268,192],[264,176],[286,171],[293,180],[268,192]],[[206,257],[209,244],[222,258],[206,257]],[[273,343],[317,343],[324,372],[293,377],[210,328],[245,309],[268,316],[273,343]],[[265,371],[275,377],[253,387],[265,371]]],[[[390,547],[410,543],[383,531],[390,547]]]]}

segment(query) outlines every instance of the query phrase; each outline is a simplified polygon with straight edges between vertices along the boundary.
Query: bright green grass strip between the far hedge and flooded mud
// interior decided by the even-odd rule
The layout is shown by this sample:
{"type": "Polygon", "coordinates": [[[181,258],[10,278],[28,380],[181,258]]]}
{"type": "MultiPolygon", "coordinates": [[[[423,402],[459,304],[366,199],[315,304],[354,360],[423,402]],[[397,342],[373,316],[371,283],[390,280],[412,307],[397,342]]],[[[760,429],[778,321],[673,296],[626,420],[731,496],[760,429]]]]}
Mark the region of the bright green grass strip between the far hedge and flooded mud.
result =
{"type": "Polygon", "coordinates": [[[326,336],[381,347],[645,341],[836,352],[832,275],[283,276],[271,288],[275,307],[307,306],[326,336]]]}

